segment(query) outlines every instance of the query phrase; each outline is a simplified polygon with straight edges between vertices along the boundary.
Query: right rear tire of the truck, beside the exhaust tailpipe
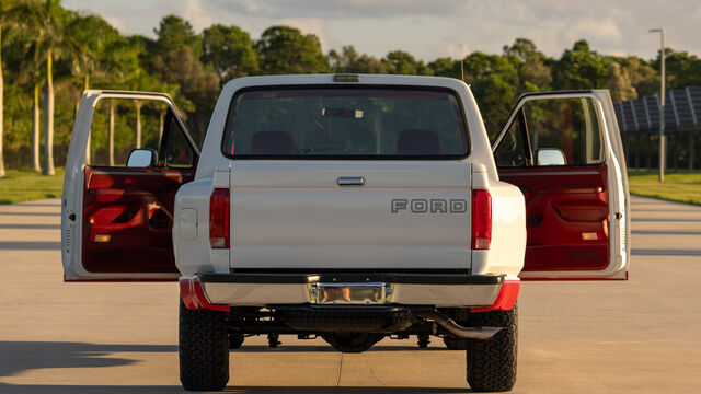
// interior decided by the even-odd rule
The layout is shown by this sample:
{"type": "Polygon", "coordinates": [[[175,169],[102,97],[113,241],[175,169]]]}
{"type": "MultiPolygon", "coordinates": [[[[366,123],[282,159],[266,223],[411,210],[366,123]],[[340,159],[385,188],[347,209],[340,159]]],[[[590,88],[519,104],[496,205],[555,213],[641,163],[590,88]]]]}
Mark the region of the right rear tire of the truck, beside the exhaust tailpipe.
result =
{"type": "Polygon", "coordinates": [[[467,378],[476,392],[509,391],[516,383],[516,348],[518,313],[510,311],[473,313],[473,327],[504,327],[487,340],[467,340],[467,378]]]}

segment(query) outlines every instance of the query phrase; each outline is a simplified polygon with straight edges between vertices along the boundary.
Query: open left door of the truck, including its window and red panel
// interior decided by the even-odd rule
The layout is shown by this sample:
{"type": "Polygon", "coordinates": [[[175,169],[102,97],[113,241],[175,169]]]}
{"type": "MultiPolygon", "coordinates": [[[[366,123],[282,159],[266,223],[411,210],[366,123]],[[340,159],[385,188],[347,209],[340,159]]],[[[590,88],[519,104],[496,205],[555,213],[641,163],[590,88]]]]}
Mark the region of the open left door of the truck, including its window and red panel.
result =
{"type": "Polygon", "coordinates": [[[85,91],[61,197],[65,280],[175,280],[173,204],[198,158],[168,94],[85,91]]]}

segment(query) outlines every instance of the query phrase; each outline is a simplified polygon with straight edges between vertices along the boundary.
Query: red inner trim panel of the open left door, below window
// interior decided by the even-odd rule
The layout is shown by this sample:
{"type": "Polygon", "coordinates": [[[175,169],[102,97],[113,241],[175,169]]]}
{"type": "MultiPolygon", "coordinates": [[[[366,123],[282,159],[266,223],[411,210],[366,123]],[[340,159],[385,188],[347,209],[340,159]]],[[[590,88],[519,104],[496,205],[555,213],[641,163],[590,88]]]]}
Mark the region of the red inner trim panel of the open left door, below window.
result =
{"type": "Polygon", "coordinates": [[[175,193],[194,170],[85,167],[83,266],[91,273],[177,273],[175,193]],[[95,235],[110,235],[95,242],[95,235]]]}

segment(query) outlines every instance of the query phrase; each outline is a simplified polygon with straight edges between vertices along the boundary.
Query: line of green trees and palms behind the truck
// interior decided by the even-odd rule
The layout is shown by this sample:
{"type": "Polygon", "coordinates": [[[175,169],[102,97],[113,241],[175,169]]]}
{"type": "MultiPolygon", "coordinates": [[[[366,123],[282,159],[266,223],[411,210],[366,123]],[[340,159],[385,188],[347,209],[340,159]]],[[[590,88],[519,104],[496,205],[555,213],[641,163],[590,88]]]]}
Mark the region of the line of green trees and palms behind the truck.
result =
{"type": "MultiPolygon", "coordinates": [[[[168,92],[202,141],[221,85],[244,76],[463,78],[492,136],[524,92],[605,88],[621,101],[655,94],[659,85],[659,54],[650,60],[602,55],[586,40],[560,58],[517,38],[502,54],[474,51],[463,59],[424,62],[403,50],[377,58],[352,45],[324,53],[315,35],[284,25],[254,39],[234,25],[215,24],[197,34],[186,20],[168,15],[153,31],[154,38],[125,36],[101,16],[64,9],[59,0],[0,0],[0,177],[5,162],[54,174],[55,162],[65,161],[87,89],[168,92]]],[[[701,84],[701,59],[673,49],[665,55],[669,89],[701,84]]],[[[134,105],[140,111],[140,103],[134,105]]]]}

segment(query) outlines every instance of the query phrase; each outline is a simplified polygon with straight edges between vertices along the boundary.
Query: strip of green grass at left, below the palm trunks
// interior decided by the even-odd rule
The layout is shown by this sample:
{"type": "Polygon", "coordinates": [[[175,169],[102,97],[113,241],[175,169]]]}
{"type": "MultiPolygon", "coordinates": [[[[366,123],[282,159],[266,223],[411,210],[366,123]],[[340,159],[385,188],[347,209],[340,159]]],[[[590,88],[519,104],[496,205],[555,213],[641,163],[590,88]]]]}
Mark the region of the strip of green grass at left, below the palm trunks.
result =
{"type": "Polygon", "coordinates": [[[35,171],[8,170],[0,178],[0,204],[60,197],[62,186],[64,169],[56,169],[54,176],[42,176],[35,171]]]}

